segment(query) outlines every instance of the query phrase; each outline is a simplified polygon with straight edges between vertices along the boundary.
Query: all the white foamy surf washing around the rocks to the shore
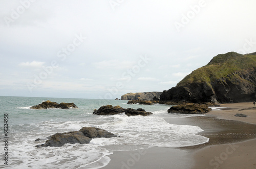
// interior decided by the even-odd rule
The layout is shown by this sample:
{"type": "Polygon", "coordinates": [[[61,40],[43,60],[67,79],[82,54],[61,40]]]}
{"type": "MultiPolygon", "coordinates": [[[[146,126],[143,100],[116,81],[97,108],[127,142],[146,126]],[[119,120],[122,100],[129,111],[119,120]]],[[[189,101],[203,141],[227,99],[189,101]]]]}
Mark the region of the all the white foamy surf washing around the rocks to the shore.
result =
{"type": "MultiPolygon", "coordinates": [[[[125,103],[126,104],[126,103],[125,103]]],[[[130,105],[129,105],[130,106],[130,105]]],[[[138,105],[134,105],[135,107],[138,105]]],[[[158,105],[160,107],[162,105],[158,105]]],[[[135,108],[134,107],[134,108],[135,108]]],[[[147,106],[145,108],[148,108],[147,106]]],[[[137,107],[136,107],[137,108],[137,107]]],[[[142,107],[144,108],[144,107],[142,107]]],[[[155,108],[155,107],[153,107],[155,108]]],[[[203,131],[196,126],[174,125],[164,120],[165,116],[174,118],[191,117],[193,115],[173,115],[167,113],[168,107],[155,108],[152,116],[131,116],[124,113],[114,116],[96,116],[88,111],[49,109],[35,114],[23,107],[24,112],[34,119],[53,116],[50,120],[37,123],[12,125],[12,151],[10,151],[11,168],[100,168],[110,162],[107,155],[113,151],[138,150],[149,147],[182,147],[198,145],[208,142],[208,138],[197,135],[203,131]],[[56,115],[67,116],[62,119],[54,118],[56,115]],[[74,116],[77,117],[74,117],[74,116]],[[84,116],[81,119],[81,116],[84,116]],[[64,120],[63,120],[64,119],[64,120]],[[63,147],[35,148],[44,144],[46,137],[57,132],[79,130],[82,127],[98,127],[112,132],[120,137],[94,138],[90,144],[66,144],[63,147]],[[41,138],[35,142],[36,138],[41,138]],[[22,140],[22,141],[21,141],[22,140]]],[[[21,110],[19,110],[21,111],[21,110]]],[[[0,147],[2,147],[0,144],[0,147]]],[[[0,166],[1,167],[1,166],[0,166]]]]}

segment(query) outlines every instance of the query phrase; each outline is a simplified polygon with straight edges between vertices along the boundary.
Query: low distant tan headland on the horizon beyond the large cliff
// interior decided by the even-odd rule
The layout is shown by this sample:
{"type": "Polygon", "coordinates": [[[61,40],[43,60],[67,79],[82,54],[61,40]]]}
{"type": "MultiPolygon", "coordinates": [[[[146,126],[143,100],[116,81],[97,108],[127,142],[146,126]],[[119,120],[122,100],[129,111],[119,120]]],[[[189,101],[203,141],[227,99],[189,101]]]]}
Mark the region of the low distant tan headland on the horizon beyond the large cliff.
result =
{"type": "Polygon", "coordinates": [[[153,100],[160,98],[162,92],[127,93],[121,96],[121,100],[153,100]]]}

